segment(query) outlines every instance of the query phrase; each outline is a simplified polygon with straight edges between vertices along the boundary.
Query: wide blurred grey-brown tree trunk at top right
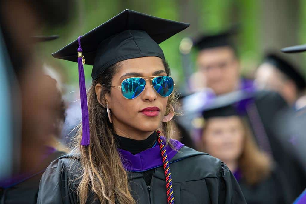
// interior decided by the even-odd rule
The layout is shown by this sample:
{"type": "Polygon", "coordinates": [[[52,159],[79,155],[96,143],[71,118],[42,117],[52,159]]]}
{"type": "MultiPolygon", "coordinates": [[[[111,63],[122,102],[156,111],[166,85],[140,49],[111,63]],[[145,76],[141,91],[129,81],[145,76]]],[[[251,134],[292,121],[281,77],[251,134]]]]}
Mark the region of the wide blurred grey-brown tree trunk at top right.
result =
{"type": "MultiPolygon", "coordinates": [[[[261,49],[279,51],[283,47],[300,43],[300,0],[261,0],[261,49]]],[[[284,54],[297,64],[298,55],[284,54]]]]}

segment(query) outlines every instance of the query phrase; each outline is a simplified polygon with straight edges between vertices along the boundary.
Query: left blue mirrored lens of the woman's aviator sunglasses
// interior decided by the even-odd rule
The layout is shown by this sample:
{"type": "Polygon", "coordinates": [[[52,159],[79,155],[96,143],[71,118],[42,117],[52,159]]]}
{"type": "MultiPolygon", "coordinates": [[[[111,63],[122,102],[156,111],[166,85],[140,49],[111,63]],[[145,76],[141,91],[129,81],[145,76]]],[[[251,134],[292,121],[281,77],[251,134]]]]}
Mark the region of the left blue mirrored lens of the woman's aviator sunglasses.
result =
{"type": "Polygon", "coordinates": [[[133,77],[122,81],[121,92],[127,99],[136,98],[141,94],[146,85],[146,81],[143,78],[133,77]]]}

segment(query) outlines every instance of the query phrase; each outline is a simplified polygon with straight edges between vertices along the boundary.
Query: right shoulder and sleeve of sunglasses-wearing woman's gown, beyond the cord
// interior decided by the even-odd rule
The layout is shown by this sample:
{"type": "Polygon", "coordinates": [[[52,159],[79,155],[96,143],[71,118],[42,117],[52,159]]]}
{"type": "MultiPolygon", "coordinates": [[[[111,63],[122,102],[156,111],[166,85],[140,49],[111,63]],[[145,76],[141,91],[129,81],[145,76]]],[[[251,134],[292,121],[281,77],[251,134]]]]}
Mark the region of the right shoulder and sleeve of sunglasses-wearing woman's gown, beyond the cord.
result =
{"type": "Polygon", "coordinates": [[[220,159],[184,146],[170,163],[173,182],[184,189],[181,203],[188,199],[198,203],[190,195],[208,196],[211,203],[246,203],[237,180],[220,159]]]}

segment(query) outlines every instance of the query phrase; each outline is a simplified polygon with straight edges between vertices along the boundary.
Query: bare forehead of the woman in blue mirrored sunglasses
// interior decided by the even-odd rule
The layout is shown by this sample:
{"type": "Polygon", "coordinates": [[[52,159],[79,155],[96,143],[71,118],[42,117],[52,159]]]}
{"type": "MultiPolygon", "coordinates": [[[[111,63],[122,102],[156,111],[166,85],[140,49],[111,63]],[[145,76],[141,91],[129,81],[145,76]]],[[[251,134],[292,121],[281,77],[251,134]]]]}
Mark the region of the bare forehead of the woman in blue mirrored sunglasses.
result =
{"type": "Polygon", "coordinates": [[[120,69],[116,75],[122,76],[127,73],[139,73],[142,76],[152,76],[154,72],[165,71],[162,59],[159,57],[138,57],[120,62],[120,69]]]}

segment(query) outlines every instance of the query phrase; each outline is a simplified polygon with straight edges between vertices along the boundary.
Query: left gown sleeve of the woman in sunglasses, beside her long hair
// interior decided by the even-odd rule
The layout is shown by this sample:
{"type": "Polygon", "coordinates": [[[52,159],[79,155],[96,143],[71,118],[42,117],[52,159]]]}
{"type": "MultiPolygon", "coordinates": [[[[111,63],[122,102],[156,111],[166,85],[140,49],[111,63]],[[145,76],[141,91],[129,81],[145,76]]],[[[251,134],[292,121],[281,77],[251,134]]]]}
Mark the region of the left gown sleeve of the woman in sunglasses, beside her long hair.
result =
{"type": "Polygon", "coordinates": [[[55,160],[41,177],[37,204],[77,203],[76,193],[72,189],[64,162],[55,160]]]}

